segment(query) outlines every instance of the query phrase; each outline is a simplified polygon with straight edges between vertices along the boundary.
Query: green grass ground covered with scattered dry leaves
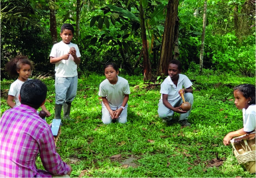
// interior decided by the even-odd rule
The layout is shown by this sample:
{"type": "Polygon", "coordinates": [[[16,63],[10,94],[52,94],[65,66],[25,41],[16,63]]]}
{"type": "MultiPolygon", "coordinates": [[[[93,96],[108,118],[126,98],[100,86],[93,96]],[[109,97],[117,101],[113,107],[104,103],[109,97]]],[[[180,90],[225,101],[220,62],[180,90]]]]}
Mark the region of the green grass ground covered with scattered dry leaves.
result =
{"type": "MultiPolygon", "coordinates": [[[[232,87],[255,85],[255,78],[186,75],[194,81],[194,104],[189,117],[192,126],[184,128],[177,123],[178,114],[171,126],[162,123],[157,114],[160,85],[143,84],[143,76],[123,76],[131,89],[128,122],[103,125],[98,91],[105,76],[81,76],[71,111],[76,123],[62,127],[57,143],[57,152],[73,167],[71,177],[85,169],[88,172],[83,177],[255,177],[238,165],[232,147],[222,143],[227,133],[243,127],[242,112],[232,101],[232,87]],[[121,156],[111,158],[118,154],[121,156]],[[216,155],[223,159],[217,167],[216,155]],[[127,158],[133,158],[133,166],[122,165],[127,158]]],[[[53,114],[47,118],[50,123],[54,118],[54,79],[43,81],[48,86],[45,105],[53,114]]],[[[8,109],[5,89],[10,84],[1,81],[1,114],[8,109]]],[[[40,158],[36,164],[43,169],[40,158]]]]}

